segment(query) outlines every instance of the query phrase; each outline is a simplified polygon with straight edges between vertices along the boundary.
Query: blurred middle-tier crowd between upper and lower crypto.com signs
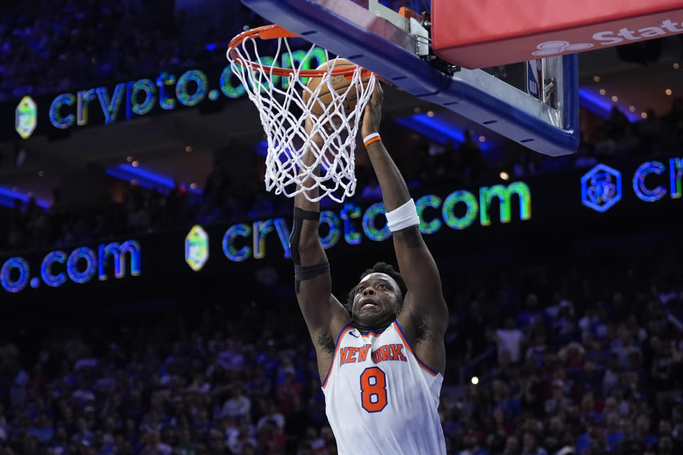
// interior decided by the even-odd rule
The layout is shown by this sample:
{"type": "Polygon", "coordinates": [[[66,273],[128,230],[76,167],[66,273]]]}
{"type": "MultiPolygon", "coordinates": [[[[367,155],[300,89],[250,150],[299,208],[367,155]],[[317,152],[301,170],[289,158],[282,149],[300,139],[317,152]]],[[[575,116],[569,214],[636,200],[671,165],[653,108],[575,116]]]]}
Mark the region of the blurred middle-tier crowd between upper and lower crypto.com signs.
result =
{"type": "MultiPolygon", "coordinates": [[[[482,151],[479,138],[466,132],[461,144],[435,144],[399,124],[386,122],[384,142],[403,172],[413,193],[431,188],[470,188],[500,181],[503,174],[516,180],[544,173],[590,168],[598,162],[650,156],[656,159],[683,148],[683,100],[672,102],[666,115],[631,123],[618,109],[609,119],[588,115],[581,146],[576,154],[551,157],[507,142],[482,151]]],[[[201,194],[189,191],[181,182],[176,187],[142,188],[114,178],[107,194],[90,207],[64,200],[58,189],[51,207],[43,209],[35,200],[16,201],[14,208],[0,207],[0,251],[73,245],[108,240],[117,235],[137,235],[185,228],[194,223],[230,223],[255,218],[287,215],[291,200],[263,188],[265,160],[252,151],[241,152],[239,180],[230,163],[217,153],[201,194]]],[[[356,148],[357,203],[381,200],[369,159],[363,147],[356,148]]],[[[323,204],[332,205],[323,200],[323,204]]]]}

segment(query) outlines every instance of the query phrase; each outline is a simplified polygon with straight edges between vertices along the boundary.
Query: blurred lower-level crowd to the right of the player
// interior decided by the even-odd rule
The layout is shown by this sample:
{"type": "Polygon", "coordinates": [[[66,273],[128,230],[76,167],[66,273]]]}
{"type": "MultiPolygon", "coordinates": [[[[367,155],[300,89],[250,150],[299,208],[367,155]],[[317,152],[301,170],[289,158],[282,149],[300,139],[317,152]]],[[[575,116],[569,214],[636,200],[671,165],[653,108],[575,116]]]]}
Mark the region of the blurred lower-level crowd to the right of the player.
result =
{"type": "MultiPolygon", "coordinates": [[[[622,279],[642,278],[632,274],[622,279]]],[[[603,299],[590,300],[600,280],[575,278],[576,300],[556,292],[541,304],[526,294],[521,311],[496,328],[480,302],[470,302],[463,325],[473,325],[475,339],[475,331],[487,333],[479,343],[495,343],[496,357],[481,365],[477,385],[442,401],[444,430],[459,449],[452,453],[681,453],[681,282],[604,287],[603,299]]],[[[502,282],[504,300],[516,284],[502,282]]]]}

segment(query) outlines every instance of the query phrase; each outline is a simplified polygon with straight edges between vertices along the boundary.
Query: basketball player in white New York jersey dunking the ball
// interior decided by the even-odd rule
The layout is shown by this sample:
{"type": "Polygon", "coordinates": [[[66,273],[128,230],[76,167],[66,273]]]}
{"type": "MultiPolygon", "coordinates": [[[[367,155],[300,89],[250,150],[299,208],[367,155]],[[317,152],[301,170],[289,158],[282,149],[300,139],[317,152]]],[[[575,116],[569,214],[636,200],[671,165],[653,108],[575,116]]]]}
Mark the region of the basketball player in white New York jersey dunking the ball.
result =
{"type": "Polygon", "coordinates": [[[346,306],[339,303],[318,238],[319,203],[299,194],[290,237],[297,299],[317,353],[339,454],[445,455],[437,407],[448,308],[415,204],[377,133],[382,102],[377,83],[361,134],[382,189],[401,274],[375,264],[361,275],[346,306]]]}

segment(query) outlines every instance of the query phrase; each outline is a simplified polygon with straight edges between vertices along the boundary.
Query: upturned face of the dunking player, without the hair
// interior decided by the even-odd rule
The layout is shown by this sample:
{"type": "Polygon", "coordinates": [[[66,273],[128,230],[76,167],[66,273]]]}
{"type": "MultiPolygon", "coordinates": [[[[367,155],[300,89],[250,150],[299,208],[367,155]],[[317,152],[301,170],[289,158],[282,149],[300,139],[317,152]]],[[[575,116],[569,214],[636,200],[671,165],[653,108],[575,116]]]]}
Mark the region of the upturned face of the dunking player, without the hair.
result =
{"type": "Polygon", "coordinates": [[[371,273],[356,286],[354,319],[372,326],[374,321],[384,321],[388,315],[396,316],[400,301],[401,289],[393,278],[384,273],[371,273]]]}

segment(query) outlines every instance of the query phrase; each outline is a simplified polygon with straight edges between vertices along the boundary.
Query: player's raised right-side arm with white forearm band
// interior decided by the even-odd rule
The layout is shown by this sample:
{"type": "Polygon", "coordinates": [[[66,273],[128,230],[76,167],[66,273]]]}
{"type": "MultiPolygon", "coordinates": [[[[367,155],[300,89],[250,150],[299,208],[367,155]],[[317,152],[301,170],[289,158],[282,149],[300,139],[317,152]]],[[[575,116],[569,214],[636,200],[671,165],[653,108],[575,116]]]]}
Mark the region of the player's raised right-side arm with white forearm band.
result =
{"type": "Polygon", "coordinates": [[[378,135],[382,102],[383,92],[377,84],[365,108],[361,134],[382,189],[398,268],[408,288],[398,322],[418,356],[443,373],[443,335],[448,324],[448,307],[443,299],[438,269],[420,234],[419,219],[408,186],[378,135]]]}

